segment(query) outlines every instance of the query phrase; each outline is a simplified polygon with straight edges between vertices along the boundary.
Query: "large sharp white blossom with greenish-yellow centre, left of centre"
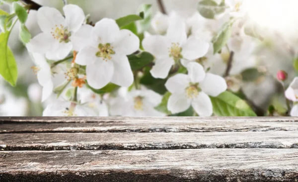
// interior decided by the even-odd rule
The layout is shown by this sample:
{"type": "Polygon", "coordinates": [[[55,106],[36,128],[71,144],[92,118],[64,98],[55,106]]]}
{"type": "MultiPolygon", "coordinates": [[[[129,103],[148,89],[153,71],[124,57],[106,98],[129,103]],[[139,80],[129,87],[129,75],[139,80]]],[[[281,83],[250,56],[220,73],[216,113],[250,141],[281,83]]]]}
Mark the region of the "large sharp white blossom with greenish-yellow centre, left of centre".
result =
{"type": "Polygon", "coordinates": [[[88,84],[101,89],[109,82],[129,87],[133,73],[126,55],[139,49],[140,40],[130,30],[120,30],[116,21],[103,18],[91,31],[90,45],[81,49],[75,63],[86,65],[88,84]]]}

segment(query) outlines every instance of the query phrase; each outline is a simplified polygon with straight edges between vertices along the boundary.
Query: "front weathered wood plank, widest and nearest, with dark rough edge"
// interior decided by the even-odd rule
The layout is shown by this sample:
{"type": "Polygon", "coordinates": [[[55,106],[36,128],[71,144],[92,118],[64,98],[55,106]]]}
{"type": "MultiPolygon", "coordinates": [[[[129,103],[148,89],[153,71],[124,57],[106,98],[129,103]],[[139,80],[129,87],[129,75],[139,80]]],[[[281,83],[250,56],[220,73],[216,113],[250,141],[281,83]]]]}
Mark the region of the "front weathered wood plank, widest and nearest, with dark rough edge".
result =
{"type": "Polygon", "coordinates": [[[0,152],[0,181],[296,182],[295,149],[0,152]]]}

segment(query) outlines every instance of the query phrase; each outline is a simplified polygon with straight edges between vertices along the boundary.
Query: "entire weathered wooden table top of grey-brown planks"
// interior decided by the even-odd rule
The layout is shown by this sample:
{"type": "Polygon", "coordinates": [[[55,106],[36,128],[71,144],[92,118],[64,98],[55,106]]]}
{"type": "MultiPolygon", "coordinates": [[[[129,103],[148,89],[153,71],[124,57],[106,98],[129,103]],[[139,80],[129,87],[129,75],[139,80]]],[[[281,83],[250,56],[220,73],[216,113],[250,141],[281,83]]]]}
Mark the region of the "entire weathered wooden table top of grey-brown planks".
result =
{"type": "Polygon", "coordinates": [[[298,182],[298,118],[1,117],[0,182],[298,182]]]}

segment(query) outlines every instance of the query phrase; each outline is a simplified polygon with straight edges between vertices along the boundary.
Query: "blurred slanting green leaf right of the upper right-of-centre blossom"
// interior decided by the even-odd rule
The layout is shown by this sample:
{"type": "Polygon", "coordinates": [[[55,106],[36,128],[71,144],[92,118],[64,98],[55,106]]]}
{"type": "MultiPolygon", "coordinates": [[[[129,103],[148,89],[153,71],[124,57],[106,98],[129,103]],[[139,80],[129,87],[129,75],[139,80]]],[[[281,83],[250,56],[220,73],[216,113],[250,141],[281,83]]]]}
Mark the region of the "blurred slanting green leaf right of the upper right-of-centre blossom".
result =
{"type": "Polygon", "coordinates": [[[213,43],[214,54],[220,52],[222,48],[225,46],[228,39],[231,37],[232,24],[233,24],[233,21],[228,21],[224,23],[219,33],[215,37],[213,37],[212,43],[213,43]]]}

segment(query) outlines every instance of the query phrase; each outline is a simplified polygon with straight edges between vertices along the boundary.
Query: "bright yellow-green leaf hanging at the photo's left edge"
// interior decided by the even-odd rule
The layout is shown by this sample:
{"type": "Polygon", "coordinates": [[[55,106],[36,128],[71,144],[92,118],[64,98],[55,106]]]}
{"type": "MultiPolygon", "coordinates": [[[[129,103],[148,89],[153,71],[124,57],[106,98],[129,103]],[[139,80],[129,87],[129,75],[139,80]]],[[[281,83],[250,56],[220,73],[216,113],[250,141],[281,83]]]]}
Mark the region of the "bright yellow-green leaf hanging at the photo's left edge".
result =
{"type": "Polygon", "coordinates": [[[17,66],[14,56],[7,46],[10,32],[0,33],[0,74],[13,87],[17,79],[17,66]]]}

